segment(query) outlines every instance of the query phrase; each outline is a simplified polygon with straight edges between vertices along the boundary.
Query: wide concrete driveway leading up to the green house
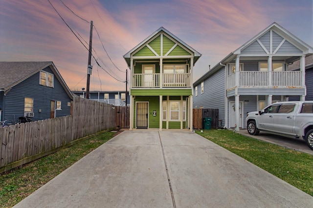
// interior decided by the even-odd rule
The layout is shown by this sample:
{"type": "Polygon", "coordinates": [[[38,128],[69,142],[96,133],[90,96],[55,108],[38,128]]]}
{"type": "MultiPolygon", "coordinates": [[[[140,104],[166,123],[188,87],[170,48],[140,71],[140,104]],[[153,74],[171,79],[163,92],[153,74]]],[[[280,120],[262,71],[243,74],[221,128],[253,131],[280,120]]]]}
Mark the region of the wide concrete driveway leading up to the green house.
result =
{"type": "Polygon", "coordinates": [[[189,131],[125,131],[15,208],[312,208],[313,197],[189,131]]]}

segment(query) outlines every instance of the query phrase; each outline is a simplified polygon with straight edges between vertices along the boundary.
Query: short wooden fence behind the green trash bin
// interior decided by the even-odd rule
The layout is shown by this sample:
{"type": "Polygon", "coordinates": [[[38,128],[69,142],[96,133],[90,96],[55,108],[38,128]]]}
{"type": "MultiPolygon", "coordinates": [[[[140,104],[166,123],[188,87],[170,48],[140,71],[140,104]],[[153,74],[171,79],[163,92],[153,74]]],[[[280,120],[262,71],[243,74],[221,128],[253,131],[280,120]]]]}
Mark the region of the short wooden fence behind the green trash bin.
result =
{"type": "Polygon", "coordinates": [[[219,126],[219,109],[193,109],[193,126],[195,129],[203,129],[203,118],[211,117],[211,128],[219,126]]]}

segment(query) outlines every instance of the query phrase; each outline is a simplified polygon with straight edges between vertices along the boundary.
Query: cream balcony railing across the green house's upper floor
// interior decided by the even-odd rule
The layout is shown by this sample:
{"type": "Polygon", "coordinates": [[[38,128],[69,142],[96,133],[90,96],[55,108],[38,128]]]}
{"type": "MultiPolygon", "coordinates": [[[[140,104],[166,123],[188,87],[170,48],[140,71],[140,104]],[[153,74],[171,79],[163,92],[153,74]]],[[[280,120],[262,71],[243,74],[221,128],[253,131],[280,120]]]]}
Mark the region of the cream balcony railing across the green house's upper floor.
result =
{"type": "Polygon", "coordinates": [[[132,88],[190,88],[190,73],[135,73],[132,88]],[[161,78],[161,79],[160,79],[161,78]]]}

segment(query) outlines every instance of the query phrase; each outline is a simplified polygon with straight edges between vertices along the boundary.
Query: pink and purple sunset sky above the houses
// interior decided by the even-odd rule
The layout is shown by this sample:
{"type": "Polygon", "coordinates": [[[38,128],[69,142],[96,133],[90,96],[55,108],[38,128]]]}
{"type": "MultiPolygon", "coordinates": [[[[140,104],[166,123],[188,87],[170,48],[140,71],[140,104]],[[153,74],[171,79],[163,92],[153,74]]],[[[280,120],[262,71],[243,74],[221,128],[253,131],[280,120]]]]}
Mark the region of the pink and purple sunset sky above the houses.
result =
{"type": "Polygon", "coordinates": [[[90,91],[125,91],[123,55],[161,26],[202,54],[194,82],[273,22],[313,46],[313,0],[0,0],[0,61],[53,61],[80,91],[90,21],[90,91]]]}

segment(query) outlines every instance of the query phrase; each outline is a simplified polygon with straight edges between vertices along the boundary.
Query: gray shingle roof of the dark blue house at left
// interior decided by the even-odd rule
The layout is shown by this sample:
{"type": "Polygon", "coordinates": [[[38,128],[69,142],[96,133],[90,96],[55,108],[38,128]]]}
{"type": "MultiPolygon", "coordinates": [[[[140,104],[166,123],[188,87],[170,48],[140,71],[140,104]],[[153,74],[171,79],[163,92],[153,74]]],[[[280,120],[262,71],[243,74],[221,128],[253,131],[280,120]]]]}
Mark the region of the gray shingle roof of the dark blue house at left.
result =
{"type": "MultiPolygon", "coordinates": [[[[67,84],[62,78],[61,74],[54,66],[52,61],[45,62],[0,62],[0,91],[8,91],[15,85],[21,83],[25,79],[31,77],[42,69],[50,67],[54,72],[56,78],[60,81],[61,85],[67,92],[68,96],[72,99],[73,94],[70,92],[67,84]]],[[[39,81],[38,81],[39,83],[39,81]]]]}

